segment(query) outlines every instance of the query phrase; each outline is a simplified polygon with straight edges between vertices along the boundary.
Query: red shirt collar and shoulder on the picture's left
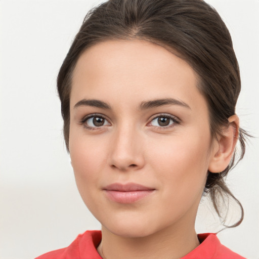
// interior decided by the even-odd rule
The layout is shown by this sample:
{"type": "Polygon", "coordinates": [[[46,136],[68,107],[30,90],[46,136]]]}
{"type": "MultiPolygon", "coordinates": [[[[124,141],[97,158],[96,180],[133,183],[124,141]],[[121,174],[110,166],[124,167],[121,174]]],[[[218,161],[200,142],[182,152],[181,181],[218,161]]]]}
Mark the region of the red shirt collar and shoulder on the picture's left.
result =
{"type": "Polygon", "coordinates": [[[100,259],[96,247],[101,239],[101,231],[86,231],[78,235],[68,247],[42,254],[35,259],[80,259],[80,254],[83,254],[85,259],[100,259]]]}

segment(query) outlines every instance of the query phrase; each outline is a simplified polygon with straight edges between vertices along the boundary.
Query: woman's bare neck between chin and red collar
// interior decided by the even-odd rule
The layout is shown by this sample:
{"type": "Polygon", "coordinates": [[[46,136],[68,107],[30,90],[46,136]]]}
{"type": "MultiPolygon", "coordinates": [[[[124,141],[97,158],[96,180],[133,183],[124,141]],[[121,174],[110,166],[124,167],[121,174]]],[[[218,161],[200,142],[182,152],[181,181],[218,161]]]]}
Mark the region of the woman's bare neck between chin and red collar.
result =
{"type": "MultiPolygon", "coordinates": [[[[186,227],[186,226],[185,226],[186,227]]],[[[102,227],[102,242],[98,247],[104,259],[179,259],[199,245],[195,229],[161,230],[145,237],[121,237],[102,227]]]]}

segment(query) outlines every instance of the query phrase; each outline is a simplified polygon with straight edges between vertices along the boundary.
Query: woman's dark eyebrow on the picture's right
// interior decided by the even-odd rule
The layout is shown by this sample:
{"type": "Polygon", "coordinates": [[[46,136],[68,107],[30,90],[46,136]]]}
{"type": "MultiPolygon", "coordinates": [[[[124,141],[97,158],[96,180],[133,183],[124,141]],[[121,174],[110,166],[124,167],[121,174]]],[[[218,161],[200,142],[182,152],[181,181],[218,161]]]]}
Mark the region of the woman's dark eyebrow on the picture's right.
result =
{"type": "Polygon", "coordinates": [[[163,105],[180,105],[183,107],[186,107],[188,109],[191,109],[191,107],[178,99],[174,99],[174,98],[165,98],[165,99],[157,99],[157,100],[151,100],[151,101],[143,101],[141,102],[139,109],[140,110],[146,110],[146,109],[150,109],[150,108],[155,108],[155,107],[159,107],[159,106],[163,106],[163,105]]]}

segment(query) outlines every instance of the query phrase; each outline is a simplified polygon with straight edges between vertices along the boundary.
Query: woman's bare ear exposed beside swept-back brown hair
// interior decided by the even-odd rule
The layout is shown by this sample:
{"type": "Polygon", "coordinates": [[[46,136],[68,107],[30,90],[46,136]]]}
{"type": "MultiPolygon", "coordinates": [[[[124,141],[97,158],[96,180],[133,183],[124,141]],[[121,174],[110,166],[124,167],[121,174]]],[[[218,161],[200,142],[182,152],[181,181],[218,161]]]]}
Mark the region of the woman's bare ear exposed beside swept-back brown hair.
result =
{"type": "Polygon", "coordinates": [[[219,140],[215,140],[208,170],[222,172],[230,163],[239,136],[239,118],[235,114],[229,117],[229,124],[224,128],[219,140]]]}

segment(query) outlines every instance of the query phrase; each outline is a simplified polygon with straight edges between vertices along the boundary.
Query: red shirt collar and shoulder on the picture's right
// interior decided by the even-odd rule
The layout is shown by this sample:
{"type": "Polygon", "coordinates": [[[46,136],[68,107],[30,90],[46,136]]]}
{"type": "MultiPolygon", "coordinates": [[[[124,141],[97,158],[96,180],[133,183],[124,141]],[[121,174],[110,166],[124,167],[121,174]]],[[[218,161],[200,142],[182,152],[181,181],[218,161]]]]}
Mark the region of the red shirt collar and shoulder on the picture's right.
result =
{"type": "Polygon", "coordinates": [[[200,245],[182,259],[245,259],[243,256],[221,244],[216,234],[199,234],[198,238],[200,245]]]}

